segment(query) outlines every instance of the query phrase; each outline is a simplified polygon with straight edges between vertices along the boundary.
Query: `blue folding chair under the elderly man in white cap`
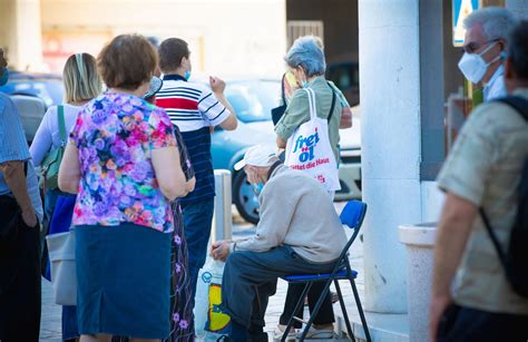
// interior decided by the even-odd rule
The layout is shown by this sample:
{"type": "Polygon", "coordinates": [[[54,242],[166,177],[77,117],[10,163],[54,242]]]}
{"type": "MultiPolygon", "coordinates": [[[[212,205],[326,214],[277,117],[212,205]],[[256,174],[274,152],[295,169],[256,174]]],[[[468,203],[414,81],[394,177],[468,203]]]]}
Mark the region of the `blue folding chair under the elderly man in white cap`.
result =
{"type": "Polygon", "coordinates": [[[358,237],[358,234],[360,233],[361,224],[363,223],[363,218],[365,217],[365,214],[366,214],[366,204],[360,201],[350,201],[349,203],[346,203],[345,207],[341,212],[341,215],[340,215],[341,223],[354,229],[354,233],[352,234],[352,237],[349,240],[343,251],[341,252],[341,255],[339,256],[339,260],[335,263],[335,267],[332,271],[332,273],[299,274],[299,275],[289,275],[284,277],[284,280],[287,281],[289,283],[304,283],[306,285],[304,286],[304,291],[301,295],[301,299],[299,300],[295,306],[295,310],[293,311],[293,314],[289,320],[286,330],[284,331],[284,334],[281,339],[282,342],[286,341],[287,334],[290,330],[292,329],[294,321],[304,323],[303,320],[295,316],[295,313],[299,312],[303,307],[304,300],[310,289],[312,287],[312,284],[315,282],[326,282],[326,284],[324,286],[323,292],[321,293],[320,299],[317,300],[317,303],[315,304],[313,312],[310,315],[310,320],[305,322],[306,326],[304,328],[304,331],[300,341],[304,341],[304,339],[306,338],[310,326],[312,326],[313,320],[317,315],[317,312],[321,309],[321,305],[323,304],[324,297],[330,292],[330,285],[332,284],[332,282],[335,285],[335,290],[338,291],[341,311],[343,312],[344,322],[346,323],[346,331],[349,333],[349,336],[352,339],[352,341],[355,341],[355,336],[352,333],[352,326],[350,325],[349,315],[346,313],[346,307],[344,305],[343,294],[341,293],[341,287],[339,285],[340,280],[350,281],[366,341],[369,342],[372,341],[372,339],[370,338],[369,326],[366,325],[363,307],[361,306],[360,295],[358,294],[358,287],[355,286],[355,277],[358,276],[358,272],[352,270],[352,267],[350,266],[349,257],[348,257],[349,248],[350,246],[352,246],[352,243],[355,241],[355,237],[358,237]]]}

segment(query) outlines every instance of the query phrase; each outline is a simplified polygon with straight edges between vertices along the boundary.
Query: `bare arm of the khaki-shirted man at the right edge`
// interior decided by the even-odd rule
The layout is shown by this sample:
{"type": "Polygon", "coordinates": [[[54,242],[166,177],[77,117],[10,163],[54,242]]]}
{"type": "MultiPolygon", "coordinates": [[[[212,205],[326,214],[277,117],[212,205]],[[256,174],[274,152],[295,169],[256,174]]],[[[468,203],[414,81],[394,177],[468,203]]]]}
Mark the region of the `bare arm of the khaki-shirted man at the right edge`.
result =
{"type": "Polygon", "coordinates": [[[434,244],[430,331],[434,336],[446,307],[452,301],[450,287],[477,216],[477,206],[448,193],[443,204],[434,244]]]}

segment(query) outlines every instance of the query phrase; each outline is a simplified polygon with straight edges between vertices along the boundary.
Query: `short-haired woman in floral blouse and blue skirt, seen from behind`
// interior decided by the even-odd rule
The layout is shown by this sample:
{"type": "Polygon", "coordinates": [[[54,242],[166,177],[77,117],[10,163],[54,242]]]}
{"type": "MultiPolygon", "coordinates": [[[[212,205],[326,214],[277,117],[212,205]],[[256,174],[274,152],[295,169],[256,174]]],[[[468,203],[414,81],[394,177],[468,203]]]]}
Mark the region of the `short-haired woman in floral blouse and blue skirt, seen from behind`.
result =
{"type": "Polygon", "coordinates": [[[60,189],[77,193],[81,341],[169,335],[170,201],[186,189],[173,125],[141,98],[156,65],[141,36],[118,36],[102,49],[108,91],[79,113],[60,166],[60,189]]]}

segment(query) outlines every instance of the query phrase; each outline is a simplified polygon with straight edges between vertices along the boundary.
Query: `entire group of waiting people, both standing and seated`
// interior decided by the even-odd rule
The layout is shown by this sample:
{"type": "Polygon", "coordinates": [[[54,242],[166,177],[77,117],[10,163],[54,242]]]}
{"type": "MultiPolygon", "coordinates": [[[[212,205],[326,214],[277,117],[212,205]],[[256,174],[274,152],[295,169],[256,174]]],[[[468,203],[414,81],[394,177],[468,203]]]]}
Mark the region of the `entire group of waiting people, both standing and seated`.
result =
{"type": "MultiPolygon", "coordinates": [[[[485,82],[488,104],[470,117],[439,176],[447,201],[436,246],[431,340],[486,340],[500,330],[514,341],[526,339],[528,303],[497,272],[492,245],[480,245],[486,233],[477,213],[490,214],[506,244],[528,135],[521,116],[491,101],[507,94],[528,98],[528,22],[485,9],[468,17],[466,27],[459,68],[468,80],[485,82]],[[472,176],[461,178],[465,174],[472,176]]],[[[254,146],[235,165],[258,196],[256,233],[215,242],[209,251],[211,134],[216,126],[236,129],[237,118],[222,79],[211,77],[211,88],[189,81],[186,41],[169,38],[157,46],[121,35],[97,58],[70,56],[65,102],[48,109],[31,147],[17,107],[0,94],[0,341],[38,341],[43,236],[57,233],[60,201],[74,204],[61,214],[72,221],[77,268],[71,280],[77,305],[62,309],[63,340],[194,341],[197,276],[209,253],[226,262],[222,307],[232,319],[226,339],[267,341],[264,315],[277,277],[332,271],[346,242],[333,197],[340,188],[339,128],[351,125],[350,105],[324,78],[320,39],[295,40],[285,62],[276,148],[254,146]],[[57,149],[63,153],[58,184],[41,177],[41,196],[36,167],[57,149]]],[[[0,85],[8,77],[0,49],[0,85]]],[[[311,312],[322,292],[322,283],[309,291],[311,312]]],[[[303,285],[289,285],[275,339],[283,338],[292,315],[302,317],[302,310],[293,312],[302,293],[303,285]]],[[[307,336],[332,339],[334,322],[329,293],[307,336]]]]}

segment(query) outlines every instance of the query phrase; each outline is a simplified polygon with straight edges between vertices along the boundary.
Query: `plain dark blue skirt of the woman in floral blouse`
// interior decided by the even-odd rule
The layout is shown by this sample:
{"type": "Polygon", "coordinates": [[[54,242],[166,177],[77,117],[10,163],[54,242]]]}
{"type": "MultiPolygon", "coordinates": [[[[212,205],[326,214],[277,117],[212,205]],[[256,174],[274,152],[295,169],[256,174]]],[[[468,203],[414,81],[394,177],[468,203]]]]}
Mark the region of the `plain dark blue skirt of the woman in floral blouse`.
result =
{"type": "Polygon", "coordinates": [[[170,234],[134,224],[76,226],[80,334],[169,334],[170,234]]]}

